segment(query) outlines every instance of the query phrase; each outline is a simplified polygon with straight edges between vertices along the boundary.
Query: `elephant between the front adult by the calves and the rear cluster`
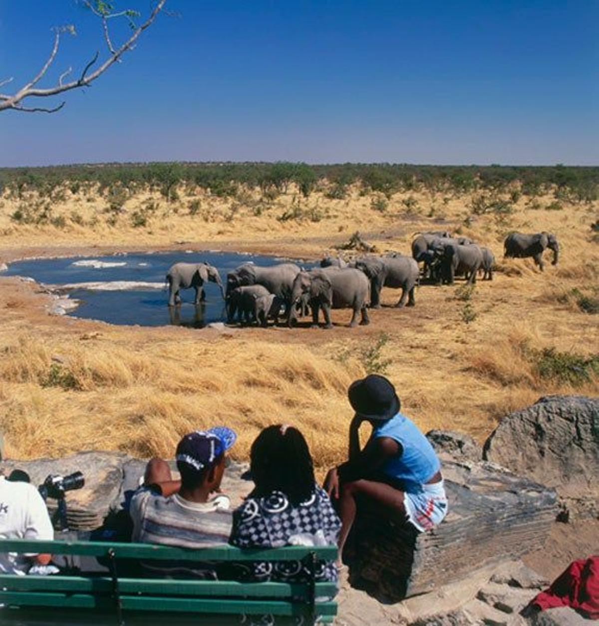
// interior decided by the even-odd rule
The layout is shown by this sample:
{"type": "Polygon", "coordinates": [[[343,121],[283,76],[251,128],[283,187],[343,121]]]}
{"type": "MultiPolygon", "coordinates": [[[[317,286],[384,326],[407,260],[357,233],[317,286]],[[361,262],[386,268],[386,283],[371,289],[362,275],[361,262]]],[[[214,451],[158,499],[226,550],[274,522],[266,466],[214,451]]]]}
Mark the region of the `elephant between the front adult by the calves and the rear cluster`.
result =
{"type": "Polygon", "coordinates": [[[413,307],[414,289],[420,271],[416,260],[411,257],[363,257],[356,261],[357,269],[366,274],[371,282],[371,307],[381,308],[381,289],[385,287],[401,287],[401,298],[396,307],[407,305],[413,307]]]}

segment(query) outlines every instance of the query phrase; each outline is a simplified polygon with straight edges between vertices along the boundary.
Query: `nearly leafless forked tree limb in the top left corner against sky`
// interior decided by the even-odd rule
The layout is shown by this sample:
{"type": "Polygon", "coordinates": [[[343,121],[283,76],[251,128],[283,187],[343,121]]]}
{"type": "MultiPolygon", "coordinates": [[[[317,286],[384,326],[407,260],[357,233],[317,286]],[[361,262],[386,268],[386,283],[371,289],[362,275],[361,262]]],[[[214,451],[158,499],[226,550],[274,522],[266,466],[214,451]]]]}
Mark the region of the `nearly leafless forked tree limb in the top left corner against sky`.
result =
{"type": "MultiPolygon", "coordinates": [[[[145,31],[146,28],[151,26],[153,21],[156,19],[156,16],[162,10],[165,5],[166,0],[159,0],[156,3],[156,6],[152,9],[148,18],[141,24],[136,23],[136,19],[140,17],[139,11],[134,11],[133,9],[124,9],[123,11],[115,11],[115,3],[108,2],[105,0],[83,0],[83,5],[86,6],[90,11],[100,19],[102,25],[103,36],[105,39],[106,46],[108,47],[108,56],[101,63],[99,67],[95,70],[91,71],[91,68],[95,66],[98,58],[100,57],[100,52],[97,51],[96,54],[91,58],[90,61],[84,66],[83,70],[79,74],[79,78],[75,80],[71,80],[67,83],[64,82],[66,77],[71,74],[73,68],[68,68],[64,71],[58,79],[58,85],[54,85],[52,87],[47,88],[39,88],[36,86],[39,81],[44,77],[48,68],[51,64],[54,63],[54,59],[56,59],[56,54],[58,54],[58,48],[60,46],[60,38],[64,33],[68,33],[71,35],[76,34],[75,27],[73,24],[69,24],[68,26],[61,26],[59,28],[54,28],[54,44],[52,46],[52,50],[50,52],[50,56],[46,59],[46,63],[42,66],[39,72],[31,79],[28,83],[23,85],[19,90],[15,91],[13,94],[0,93],[0,111],[24,111],[26,113],[55,113],[59,111],[64,106],[64,101],[61,102],[58,106],[54,106],[51,108],[44,106],[23,106],[21,103],[26,98],[46,98],[48,96],[56,96],[60,93],[64,93],[65,91],[71,91],[73,89],[77,89],[79,87],[87,87],[99,78],[105,71],[110,68],[114,63],[120,62],[121,56],[125,54],[128,50],[133,49],[135,42],[145,31]],[[110,34],[109,24],[112,19],[126,19],[131,26],[132,33],[130,38],[128,38],[125,43],[122,43],[120,46],[116,46],[113,43],[113,39],[110,34]]],[[[13,78],[6,78],[4,80],[0,80],[0,88],[4,85],[8,85],[13,81],[13,78]]]]}

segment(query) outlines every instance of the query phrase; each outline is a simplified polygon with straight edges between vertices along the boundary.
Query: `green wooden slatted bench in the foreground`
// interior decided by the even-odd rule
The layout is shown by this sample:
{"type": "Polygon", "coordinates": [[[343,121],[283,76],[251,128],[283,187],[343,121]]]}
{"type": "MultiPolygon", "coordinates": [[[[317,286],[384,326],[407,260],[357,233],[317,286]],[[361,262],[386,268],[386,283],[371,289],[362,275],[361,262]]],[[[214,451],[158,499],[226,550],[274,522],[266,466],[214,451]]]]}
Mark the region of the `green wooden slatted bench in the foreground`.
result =
{"type": "MultiPolygon", "coordinates": [[[[98,541],[31,541],[0,540],[0,552],[51,553],[103,557],[110,573],[106,575],[81,574],[76,576],[18,576],[0,575],[0,623],[8,618],[14,623],[33,623],[25,615],[40,613],[46,623],[52,615],[60,617],[57,623],[67,623],[70,611],[81,611],[111,621],[101,623],[133,623],[140,615],[148,624],[148,612],[160,612],[161,623],[178,625],[184,618],[210,615],[207,623],[220,623],[232,615],[275,615],[281,618],[303,617],[304,623],[332,622],[337,603],[332,598],[337,592],[334,583],[229,582],[208,580],[173,580],[170,578],[127,578],[118,573],[123,560],[181,560],[197,562],[285,561],[305,560],[314,572],[317,560],[335,560],[337,548],[325,546],[305,548],[286,546],[269,550],[240,550],[232,546],[188,550],[148,543],[103,543],[98,541]],[[32,612],[32,609],[35,609],[32,612]],[[91,610],[91,611],[90,611],[91,610]],[[164,613],[171,613],[166,619],[164,613]],[[193,614],[190,615],[190,614],[193,614]],[[177,615],[177,618],[173,618],[177,615]],[[218,617],[218,620],[217,620],[218,617]]],[[[230,619],[230,617],[228,618],[230,619]]],[[[203,618],[205,621],[205,618],[203,618]]],[[[88,618],[86,622],[90,623],[88,618]]],[[[76,623],[76,622],[75,622],[76,623]]],[[[98,622],[100,623],[100,622],[98,622]]]]}

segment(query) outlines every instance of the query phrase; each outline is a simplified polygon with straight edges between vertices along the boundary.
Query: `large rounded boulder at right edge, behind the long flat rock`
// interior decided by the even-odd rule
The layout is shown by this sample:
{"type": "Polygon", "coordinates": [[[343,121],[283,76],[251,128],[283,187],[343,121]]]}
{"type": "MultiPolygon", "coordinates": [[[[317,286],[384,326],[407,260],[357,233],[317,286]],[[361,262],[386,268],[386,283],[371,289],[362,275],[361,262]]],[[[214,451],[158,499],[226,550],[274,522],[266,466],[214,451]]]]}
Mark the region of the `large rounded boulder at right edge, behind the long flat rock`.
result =
{"type": "Polygon", "coordinates": [[[599,515],[599,399],[541,398],[503,418],[483,454],[554,488],[579,515],[599,515]]]}

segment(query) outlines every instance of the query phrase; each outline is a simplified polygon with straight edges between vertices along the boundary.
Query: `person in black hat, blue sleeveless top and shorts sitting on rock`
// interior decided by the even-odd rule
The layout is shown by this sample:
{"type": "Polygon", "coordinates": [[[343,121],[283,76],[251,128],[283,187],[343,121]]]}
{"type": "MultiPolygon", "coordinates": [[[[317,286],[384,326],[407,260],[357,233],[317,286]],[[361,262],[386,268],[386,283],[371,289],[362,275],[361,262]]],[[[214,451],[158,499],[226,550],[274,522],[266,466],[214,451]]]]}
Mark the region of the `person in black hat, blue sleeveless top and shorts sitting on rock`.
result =
{"type": "Polygon", "coordinates": [[[424,434],[399,412],[395,387],[371,374],[351,384],[355,411],[349,427],[349,460],[327,474],[325,490],[341,517],[339,563],[356,519],[357,501],[381,508],[393,520],[409,521],[424,532],[441,523],[448,510],[441,464],[424,434]],[[363,449],[359,428],[367,421],[372,434],[363,449]]]}

